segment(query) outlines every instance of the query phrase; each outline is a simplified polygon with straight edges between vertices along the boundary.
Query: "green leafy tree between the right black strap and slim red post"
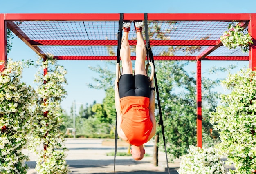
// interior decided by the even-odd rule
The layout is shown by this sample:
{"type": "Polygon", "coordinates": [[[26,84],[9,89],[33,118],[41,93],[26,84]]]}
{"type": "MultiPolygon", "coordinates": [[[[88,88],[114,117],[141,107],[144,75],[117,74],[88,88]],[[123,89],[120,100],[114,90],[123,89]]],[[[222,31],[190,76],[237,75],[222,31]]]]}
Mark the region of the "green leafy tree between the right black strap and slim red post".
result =
{"type": "MultiPolygon", "coordinates": [[[[187,147],[196,143],[195,79],[189,77],[184,65],[186,63],[178,61],[155,64],[166,148],[171,159],[186,153],[187,147]]],[[[156,119],[159,121],[159,116],[156,119]]],[[[159,145],[162,146],[163,138],[159,135],[159,145]]]]}

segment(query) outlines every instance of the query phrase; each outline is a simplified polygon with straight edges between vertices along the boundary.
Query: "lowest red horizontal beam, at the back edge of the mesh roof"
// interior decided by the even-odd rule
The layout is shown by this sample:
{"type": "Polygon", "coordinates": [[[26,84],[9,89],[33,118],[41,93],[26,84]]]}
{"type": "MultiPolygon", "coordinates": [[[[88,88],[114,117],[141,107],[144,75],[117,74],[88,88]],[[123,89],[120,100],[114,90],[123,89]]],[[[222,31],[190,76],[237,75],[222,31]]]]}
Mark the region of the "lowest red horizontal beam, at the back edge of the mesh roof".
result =
{"type": "MultiPolygon", "coordinates": [[[[116,56],[54,56],[58,60],[117,60],[116,56]]],[[[135,60],[131,56],[131,60],[135,60]]],[[[145,59],[146,60],[146,59],[145,59]]],[[[154,60],[196,60],[196,56],[154,56],[154,60]]],[[[240,60],[248,61],[248,56],[208,56],[203,60],[240,60]]]]}

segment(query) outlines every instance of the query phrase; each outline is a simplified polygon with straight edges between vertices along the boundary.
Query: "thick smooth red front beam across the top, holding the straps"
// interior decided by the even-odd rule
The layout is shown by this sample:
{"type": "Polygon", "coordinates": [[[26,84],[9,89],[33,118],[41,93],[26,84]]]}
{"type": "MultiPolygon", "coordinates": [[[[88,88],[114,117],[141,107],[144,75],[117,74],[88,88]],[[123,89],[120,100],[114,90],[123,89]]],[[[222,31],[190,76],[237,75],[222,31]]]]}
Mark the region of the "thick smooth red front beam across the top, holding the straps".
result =
{"type": "MultiPolygon", "coordinates": [[[[148,13],[148,20],[166,21],[247,21],[250,13],[148,13]]],[[[5,20],[119,21],[119,13],[7,13],[5,20]]],[[[124,20],[144,20],[144,13],[124,13],[124,20]]]]}

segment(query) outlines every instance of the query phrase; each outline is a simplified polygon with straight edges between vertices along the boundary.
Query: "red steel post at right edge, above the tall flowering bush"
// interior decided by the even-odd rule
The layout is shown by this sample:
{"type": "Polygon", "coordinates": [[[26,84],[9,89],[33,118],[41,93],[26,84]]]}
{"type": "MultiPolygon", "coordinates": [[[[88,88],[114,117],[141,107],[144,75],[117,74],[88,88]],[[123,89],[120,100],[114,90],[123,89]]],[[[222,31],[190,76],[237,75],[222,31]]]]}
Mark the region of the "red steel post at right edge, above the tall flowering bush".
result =
{"type": "Polygon", "coordinates": [[[256,14],[251,14],[251,20],[248,25],[248,32],[251,33],[254,42],[249,49],[249,67],[256,70],[256,14]]]}

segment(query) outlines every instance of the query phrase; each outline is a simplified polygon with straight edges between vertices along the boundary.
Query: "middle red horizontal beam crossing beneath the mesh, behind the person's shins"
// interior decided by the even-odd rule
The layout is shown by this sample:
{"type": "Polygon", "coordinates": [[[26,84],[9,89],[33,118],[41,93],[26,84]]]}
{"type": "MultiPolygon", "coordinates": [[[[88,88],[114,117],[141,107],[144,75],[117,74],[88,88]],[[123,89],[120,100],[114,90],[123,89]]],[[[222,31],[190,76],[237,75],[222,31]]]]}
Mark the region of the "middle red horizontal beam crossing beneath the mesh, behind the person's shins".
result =
{"type": "MultiPolygon", "coordinates": [[[[69,46],[115,46],[117,40],[29,40],[31,45],[69,45],[69,46]]],[[[137,40],[129,40],[130,45],[136,45],[137,40]]],[[[217,45],[218,40],[150,40],[151,46],[169,45],[217,45]]]]}

